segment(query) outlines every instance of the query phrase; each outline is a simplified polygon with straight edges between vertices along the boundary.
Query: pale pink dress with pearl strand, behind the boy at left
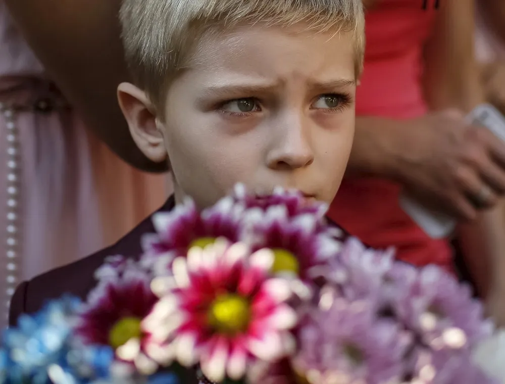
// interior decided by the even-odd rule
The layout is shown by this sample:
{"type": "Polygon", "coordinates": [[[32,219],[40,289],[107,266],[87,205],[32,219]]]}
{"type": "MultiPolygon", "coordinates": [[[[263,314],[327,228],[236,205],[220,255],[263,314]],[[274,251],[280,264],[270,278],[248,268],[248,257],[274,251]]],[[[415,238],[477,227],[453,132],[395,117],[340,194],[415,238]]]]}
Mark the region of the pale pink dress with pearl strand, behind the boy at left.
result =
{"type": "Polygon", "coordinates": [[[17,283],[116,242],[168,188],[87,132],[0,0],[0,327],[17,283]]]}

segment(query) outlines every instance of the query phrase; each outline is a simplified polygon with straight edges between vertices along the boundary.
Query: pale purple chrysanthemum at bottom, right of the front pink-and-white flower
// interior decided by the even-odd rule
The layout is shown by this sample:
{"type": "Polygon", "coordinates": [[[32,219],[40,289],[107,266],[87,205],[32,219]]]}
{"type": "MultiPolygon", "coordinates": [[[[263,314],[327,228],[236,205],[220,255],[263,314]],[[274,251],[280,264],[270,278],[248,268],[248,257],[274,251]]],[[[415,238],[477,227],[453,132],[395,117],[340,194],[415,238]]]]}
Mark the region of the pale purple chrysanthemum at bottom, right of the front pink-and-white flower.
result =
{"type": "Polygon", "coordinates": [[[410,333],[375,317],[366,301],[332,300],[310,311],[298,334],[295,370],[310,382],[395,382],[404,375],[410,333]],[[314,380],[314,381],[313,381],[314,380]],[[334,381],[332,381],[334,380],[334,381]],[[361,381],[360,381],[361,380],[361,381]]]}

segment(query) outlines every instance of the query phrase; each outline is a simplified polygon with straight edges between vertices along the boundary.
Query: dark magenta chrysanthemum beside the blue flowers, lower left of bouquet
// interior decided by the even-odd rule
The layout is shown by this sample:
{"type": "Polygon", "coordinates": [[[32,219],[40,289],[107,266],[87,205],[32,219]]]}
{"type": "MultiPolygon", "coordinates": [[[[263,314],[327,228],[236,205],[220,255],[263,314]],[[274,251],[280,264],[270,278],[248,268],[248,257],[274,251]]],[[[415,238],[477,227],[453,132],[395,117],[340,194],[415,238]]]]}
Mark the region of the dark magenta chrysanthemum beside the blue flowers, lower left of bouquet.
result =
{"type": "Polygon", "coordinates": [[[158,365],[143,352],[147,334],[141,321],[158,298],[150,289],[152,276],[138,263],[120,256],[109,258],[97,271],[99,283],[79,313],[76,333],[85,345],[108,345],[121,362],[145,374],[158,365]]]}

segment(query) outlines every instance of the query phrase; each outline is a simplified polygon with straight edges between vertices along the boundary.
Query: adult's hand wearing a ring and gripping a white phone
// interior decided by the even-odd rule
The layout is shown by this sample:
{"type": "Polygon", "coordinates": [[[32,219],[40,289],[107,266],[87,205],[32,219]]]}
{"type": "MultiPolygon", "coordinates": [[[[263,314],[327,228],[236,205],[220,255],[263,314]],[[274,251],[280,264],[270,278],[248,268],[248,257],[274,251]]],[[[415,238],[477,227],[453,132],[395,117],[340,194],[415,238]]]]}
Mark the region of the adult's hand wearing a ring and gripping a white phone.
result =
{"type": "Polygon", "coordinates": [[[401,122],[388,139],[399,181],[429,206],[472,220],[505,193],[505,144],[459,111],[401,122]]]}

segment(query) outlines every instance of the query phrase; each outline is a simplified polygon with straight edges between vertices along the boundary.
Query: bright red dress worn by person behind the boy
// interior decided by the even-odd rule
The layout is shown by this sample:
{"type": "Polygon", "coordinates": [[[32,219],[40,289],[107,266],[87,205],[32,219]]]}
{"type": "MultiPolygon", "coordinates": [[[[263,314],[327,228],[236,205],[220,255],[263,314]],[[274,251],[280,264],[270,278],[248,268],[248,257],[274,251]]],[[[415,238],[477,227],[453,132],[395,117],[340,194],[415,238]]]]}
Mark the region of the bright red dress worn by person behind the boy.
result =
{"type": "MultiPolygon", "coordinates": [[[[442,0],[443,1],[443,0],[442,0]]],[[[358,116],[413,118],[426,113],[422,49],[430,37],[435,1],[379,0],[366,15],[365,71],[357,91],[358,116]]],[[[401,210],[400,187],[378,179],[344,180],[329,217],[366,244],[395,246],[398,259],[451,269],[448,241],[429,238],[401,210]]]]}

